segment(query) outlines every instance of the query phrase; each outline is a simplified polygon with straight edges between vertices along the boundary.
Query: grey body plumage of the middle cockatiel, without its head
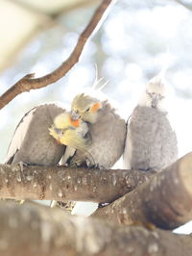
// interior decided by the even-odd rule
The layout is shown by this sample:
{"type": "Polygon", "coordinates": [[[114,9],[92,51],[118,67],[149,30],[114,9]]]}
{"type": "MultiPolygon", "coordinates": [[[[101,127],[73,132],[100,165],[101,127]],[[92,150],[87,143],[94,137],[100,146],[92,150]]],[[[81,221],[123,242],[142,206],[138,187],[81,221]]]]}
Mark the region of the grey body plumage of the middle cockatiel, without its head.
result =
{"type": "Polygon", "coordinates": [[[86,162],[88,166],[109,168],[123,154],[126,122],[117,115],[108,101],[103,102],[103,108],[99,110],[98,115],[95,123],[87,123],[91,138],[88,153],[77,150],[73,162],[78,165],[86,162]]]}

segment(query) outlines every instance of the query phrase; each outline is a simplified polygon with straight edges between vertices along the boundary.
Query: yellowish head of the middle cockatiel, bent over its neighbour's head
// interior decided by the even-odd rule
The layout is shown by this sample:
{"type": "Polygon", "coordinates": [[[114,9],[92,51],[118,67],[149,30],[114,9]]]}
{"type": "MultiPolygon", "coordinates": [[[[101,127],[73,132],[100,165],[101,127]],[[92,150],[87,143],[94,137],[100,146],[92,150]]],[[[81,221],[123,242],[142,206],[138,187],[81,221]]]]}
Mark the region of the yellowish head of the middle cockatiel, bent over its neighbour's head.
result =
{"type": "Polygon", "coordinates": [[[81,93],[73,99],[71,116],[73,120],[81,118],[86,122],[95,123],[102,108],[103,101],[81,93]]]}

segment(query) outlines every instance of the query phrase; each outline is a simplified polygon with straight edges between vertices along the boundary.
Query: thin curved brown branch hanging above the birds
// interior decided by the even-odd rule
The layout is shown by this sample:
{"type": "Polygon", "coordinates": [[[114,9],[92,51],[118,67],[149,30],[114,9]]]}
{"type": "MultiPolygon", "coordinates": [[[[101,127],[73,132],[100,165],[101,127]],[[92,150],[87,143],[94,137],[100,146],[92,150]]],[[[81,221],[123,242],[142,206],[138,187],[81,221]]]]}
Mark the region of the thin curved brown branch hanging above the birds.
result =
{"type": "Polygon", "coordinates": [[[92,35],[92,33],[98,27],[98,24],[101,24],[101,20],[104,16],[104,13],[108,10],[109,6],[114,2],[113,0],[103,0],[99,8],[93,14],[90,22],[84,29],[83,33],[80,35],[78,39],[77,45],[69,58],[60,66],[55,69],[50,74],[45,76],[34,78],[35,74],[28,74],[22,79],[20,79],[16,84],[12,86],[9,90],[7,90],[1,97],[0,97],[0,109],[6,106],[12,99],[24,91],[29,91],[32,89],[40,89],[50,85],[56,81],[58,81],[61,77],[63,77],[72,67],[74,64],[79,62],[80,56],[84,50],[84,45],[88,38],[92,35]]]}

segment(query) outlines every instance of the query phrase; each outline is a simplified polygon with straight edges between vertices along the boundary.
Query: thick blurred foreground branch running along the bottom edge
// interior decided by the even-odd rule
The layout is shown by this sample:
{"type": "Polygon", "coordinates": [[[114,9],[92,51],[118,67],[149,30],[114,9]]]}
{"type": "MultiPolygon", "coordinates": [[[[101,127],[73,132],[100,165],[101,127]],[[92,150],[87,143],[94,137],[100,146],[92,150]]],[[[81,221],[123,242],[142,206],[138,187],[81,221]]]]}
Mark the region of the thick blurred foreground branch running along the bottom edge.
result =
{"type": "Polygon", "coordinates": [[[4,256],[191,256],[192,251],[190,236],[69,217],[27,203],[1,202],[0,230],[4,256]]]}

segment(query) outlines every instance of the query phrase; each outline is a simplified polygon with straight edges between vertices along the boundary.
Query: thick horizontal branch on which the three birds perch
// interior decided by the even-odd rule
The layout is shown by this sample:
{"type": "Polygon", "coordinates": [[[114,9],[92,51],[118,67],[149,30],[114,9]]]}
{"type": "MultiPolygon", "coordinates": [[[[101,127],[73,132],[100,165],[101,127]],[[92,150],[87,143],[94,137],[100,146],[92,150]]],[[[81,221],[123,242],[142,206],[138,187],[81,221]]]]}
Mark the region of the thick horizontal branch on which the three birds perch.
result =
{"type": "Polygon", "coordinates": [[[63,166],[0,165],[0,197],[110,202],[153,172],[122,169],[66,168],[63,166]]]}

